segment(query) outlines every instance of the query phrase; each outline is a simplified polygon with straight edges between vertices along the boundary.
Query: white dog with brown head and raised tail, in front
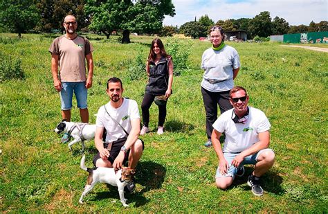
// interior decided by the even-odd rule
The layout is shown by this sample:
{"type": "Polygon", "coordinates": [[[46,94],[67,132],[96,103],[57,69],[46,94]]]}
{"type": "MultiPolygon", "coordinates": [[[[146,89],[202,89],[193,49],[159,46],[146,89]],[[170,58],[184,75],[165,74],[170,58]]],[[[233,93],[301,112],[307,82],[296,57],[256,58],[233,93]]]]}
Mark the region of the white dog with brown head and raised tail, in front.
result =
{"type": "Polygon", "coordinates": [[[95,168],[86,168],[84,165],[85,161],[85,155],[83,154],[83,157],[81,159],[80,167],[82,170],[85,170],[89,172],[88,179],[86,180],[86,186],[84,188],[84,191],[80,197],[79,203],[83,204],[83,197],[89,193],[93,186],[100,183],[106,183],[111,184],[111,186],[117,186],[118,187],[118,194],[120,195],[120,202],[123,206],[127,207],[127,199],[124,197],[124,188],[127,186],[129,181],[132,181],[135,170],[132,170],[131,168],[122,168],[118,170],[117,172],[113,168],[106,168],[106,167],[95,167],[95,168]]]}

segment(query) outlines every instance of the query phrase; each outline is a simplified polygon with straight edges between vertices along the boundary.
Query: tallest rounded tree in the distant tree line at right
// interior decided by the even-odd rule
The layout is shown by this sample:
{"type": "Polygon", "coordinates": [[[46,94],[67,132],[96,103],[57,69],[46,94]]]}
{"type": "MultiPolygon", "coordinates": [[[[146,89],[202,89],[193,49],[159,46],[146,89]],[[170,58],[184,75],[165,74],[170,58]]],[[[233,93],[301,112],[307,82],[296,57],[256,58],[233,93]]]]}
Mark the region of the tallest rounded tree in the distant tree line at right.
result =
{"type": "Polygon", "coordinates": [[[248,33],[250,33],[250,37],[254,37],[255,35],[259,37],[268,37],[272,33],[271,26],[270,12],[260,12],[259,15],[256,15],[250,20],[248,33]]]}

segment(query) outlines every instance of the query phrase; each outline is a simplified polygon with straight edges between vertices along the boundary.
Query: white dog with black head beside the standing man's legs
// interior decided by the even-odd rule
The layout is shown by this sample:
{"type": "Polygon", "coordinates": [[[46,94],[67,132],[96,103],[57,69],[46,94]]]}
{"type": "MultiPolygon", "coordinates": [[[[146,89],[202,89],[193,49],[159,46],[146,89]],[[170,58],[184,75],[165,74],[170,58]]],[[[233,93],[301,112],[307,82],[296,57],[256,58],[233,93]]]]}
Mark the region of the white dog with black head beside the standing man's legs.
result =
{"type": "Polygon", "coordinates": [[[90,125],[89,123],[74,123],[62,120],[54,131],[57,134],[64,132],[69,134],[69,136],[73,136],[74,140],[69,143],[69,150],[72,150],[73,144],[81,142],[82,150],[84,151],[84,141],[90,141],[95,138],[95,125],[90,125]]]}

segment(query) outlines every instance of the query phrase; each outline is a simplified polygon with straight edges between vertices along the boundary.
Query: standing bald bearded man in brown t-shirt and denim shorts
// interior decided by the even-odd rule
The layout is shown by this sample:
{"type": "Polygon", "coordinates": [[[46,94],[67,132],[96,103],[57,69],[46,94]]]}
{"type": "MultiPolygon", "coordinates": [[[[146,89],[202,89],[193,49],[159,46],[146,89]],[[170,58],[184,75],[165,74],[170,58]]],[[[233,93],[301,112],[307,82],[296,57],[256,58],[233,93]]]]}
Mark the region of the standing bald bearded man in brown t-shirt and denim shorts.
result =
{"type": "Polygon", "coordinates": [[[86,98],[87,89],[92,86],[93,47],[88,39],[80,37],[76,33],[78,23],[73,15],[66,16],[63,25],[66,34],[57,37],[49,48],[49,52],[51,52],[53,85],[60,92],[62,118],[71,121],[74,92],[78,101],[78,108],[80,109],[81,121],[89,123],[86,98]],[[88,68],[87,76],[85,64],[88,68]]]}

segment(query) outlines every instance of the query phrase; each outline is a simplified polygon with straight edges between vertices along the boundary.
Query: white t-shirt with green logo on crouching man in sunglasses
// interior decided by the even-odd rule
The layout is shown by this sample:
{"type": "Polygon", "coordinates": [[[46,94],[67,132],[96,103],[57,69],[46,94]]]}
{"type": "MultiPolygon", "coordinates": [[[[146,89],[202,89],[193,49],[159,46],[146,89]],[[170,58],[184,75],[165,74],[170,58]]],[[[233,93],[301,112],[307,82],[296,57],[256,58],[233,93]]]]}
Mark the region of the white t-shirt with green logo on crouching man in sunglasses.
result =
{"type": "Polygon", "coordinates": [[[259,133],[270,130],[271,124],[264,112],[254,107],[248,108],[245,124],[233,122],[233,109],[221,114],[213,124],[215,130],[226,134],[223,152],[242,152],[259,141],[259,133]]]}

